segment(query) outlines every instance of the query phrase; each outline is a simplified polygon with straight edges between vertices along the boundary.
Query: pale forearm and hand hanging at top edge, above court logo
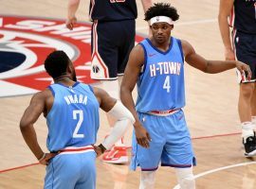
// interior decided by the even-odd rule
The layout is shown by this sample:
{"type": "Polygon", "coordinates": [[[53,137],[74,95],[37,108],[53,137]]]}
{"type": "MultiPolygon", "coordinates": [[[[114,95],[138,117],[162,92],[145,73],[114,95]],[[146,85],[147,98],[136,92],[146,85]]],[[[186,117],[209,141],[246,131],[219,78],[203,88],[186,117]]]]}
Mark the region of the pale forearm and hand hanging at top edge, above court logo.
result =
{"type": "Polygon", "coordinates": [[[69,0],[67,5],[67,19],[65,26],[70,30],[73,29],[77,23],[76,12],[79,8],[80,0],[69,0]]]}

